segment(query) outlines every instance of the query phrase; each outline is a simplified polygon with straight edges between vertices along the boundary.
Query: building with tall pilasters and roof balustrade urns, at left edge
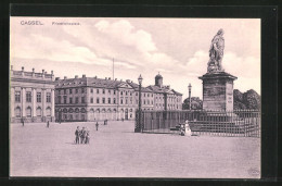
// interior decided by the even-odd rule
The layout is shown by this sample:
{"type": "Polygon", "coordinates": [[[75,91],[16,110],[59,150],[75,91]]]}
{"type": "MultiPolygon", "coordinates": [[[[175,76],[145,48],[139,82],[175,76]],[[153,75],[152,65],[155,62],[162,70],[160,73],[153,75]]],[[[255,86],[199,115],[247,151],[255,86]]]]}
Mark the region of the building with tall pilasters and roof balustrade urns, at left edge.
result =
{"type": "Polygon", "coordinates": [[[10,119],[11,123],[53,122],[54,75],[42,73],[10,71],[10,119]]]}

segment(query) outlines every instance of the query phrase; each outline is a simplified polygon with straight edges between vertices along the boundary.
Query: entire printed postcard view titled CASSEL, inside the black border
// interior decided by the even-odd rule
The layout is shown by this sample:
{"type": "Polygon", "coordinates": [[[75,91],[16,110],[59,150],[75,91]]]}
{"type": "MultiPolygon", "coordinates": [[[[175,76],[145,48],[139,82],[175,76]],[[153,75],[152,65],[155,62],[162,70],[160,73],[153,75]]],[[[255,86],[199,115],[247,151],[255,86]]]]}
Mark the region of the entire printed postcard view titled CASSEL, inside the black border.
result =
{"type": "Polygon", "coordinates": [[[260,178],[260,18],[10,17],[10,176],[260,178]]]}

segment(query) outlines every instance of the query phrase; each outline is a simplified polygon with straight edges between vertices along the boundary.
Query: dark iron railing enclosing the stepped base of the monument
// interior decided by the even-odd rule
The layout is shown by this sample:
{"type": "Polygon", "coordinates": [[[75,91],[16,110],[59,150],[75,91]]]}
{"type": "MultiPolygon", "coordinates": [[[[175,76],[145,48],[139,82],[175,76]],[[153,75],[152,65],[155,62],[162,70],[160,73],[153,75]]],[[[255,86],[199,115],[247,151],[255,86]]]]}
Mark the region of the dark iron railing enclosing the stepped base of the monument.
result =
{"type": "Polygon", "coordinates": [[[174,128],[189,121],[192,135],[260,137],[260,112],[234,111],[142,111],[136,114],[136,128],[145,133],[176,133],[174,128]]]}

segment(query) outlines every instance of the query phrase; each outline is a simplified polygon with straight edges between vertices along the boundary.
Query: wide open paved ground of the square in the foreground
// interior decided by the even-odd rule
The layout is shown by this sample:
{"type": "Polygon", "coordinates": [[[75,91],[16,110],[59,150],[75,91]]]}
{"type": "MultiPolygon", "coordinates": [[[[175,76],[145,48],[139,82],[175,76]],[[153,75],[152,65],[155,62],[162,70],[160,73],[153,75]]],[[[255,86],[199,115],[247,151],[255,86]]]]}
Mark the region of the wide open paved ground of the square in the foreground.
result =
{"type": "Polygon", "coordinates": [[[256,178],[260,139],[137,134],[134,123],[11,124],[11,176],[256,178]],[[89,145],[75,145],[87,126],[89,145]]]}

